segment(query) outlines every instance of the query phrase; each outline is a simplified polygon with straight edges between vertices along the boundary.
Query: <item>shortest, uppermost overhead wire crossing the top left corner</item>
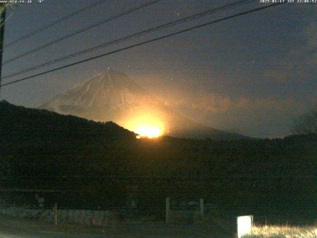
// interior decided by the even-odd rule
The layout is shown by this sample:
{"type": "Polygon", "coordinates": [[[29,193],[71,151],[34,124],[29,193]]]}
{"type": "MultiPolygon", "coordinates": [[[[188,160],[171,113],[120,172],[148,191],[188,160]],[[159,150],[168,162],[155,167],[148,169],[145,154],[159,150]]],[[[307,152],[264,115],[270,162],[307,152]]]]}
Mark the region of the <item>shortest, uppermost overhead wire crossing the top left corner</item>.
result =
{"type": "Polygon", "coordinates": [[[32,31],[32,32],[30,32],[30,33],[28,33],[28,34],[26,34],[26,35],[24,35],[24,36],[21,36],[21,37],[18,38],[18,39],[15,39],[15,40],[11,41],[10,43],[6,44],[6,45],[4,46],[4,48],[10,47],[10,46],[12,46],[12,45],[18,43],[19,41],[25,40],[25,39],[27,39],[27,38],[29,38],[29,37],[31,37],[31,36],[34,36],[35,34],[38,34],[38,33],[42,32],[42,31],[45,31],[45,30],[49,29],[50,27],[52,27],[52,26],[54,26],[54,25],[56,25],[56,24],[58,24],[58,23],[60,23],[60,22],[63,22],[63,21],[65,21],[65,20],[67,20],[67,19],[69,19],[69,18],[71,18],[71,17],[73,17],[73,16],[75,16],[75,15],[77,15],[77,14],[83,12],[83,11],[86,11],[86,10],[88,10],[88,9],[94,7],[94,6],[100,5],[100,4],[102,4],[102,3],[106,2],[106,1],[107,1],[107,0],[99,0],[99,1],[96,1],[95,3],[90,4],[89,6],[80,8],[79,10],[74,11],[74,12],[72,12],[72,13],[66,15],[66,16],[63,16],[63,17],[61,17],[61,18],[59,18],[59,19],[57,19],[57,20],[51,22],[50,24],[48,24],[48,25],[46,25],[46,26],[44,26],[44,27],[42,27],[42,28],[40,28],[40,29],[37,29],[37,30],[35,30],[35,31],[32,31]]]}

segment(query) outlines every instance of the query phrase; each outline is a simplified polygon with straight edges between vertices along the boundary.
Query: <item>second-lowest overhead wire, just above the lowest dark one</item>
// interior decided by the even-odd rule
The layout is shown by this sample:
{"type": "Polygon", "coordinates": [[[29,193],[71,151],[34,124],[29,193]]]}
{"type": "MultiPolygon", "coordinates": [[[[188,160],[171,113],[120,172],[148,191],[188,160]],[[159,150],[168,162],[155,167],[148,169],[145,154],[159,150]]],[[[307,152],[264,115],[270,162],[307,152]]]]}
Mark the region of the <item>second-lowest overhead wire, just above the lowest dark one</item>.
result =
{"type": "Polygon", "coordinates": [[[92,52],[92,51],[95,51],[95,50],[99,50],[99,49],[105,48],[105,47],[110,46],[110,45],[114,45],[114,44],[117,44],[117,43],[120,43],[120,42],[124,42],[124,41],[130,40],[130,39],[133,39],[133,38],[137,38],[137,37],[140,37],[140,36],[155,32],[155,31],[159,31],[159,30],[171,27],[171,26],[175,26],[177,24],[181,24],[181,23],[185,23],[185,22],[188,22],[188,21],[191,21],[191,20],[195,20],[197,18],[209,15],[209,14],[217,12],[217,11],[222,11],[222,10],[225,10],[225,9],[229,9],[231,7],[236,7],[236,6],[239,6],[239,5],[242,5],[242,4],[246,4],[246,3],[249,3],[249,2],[252,2],[252,1],[255,1],[255,0],[240,0],[240,1],[237,1],[237,2],[234,2],[234,3],[230,3],[230,4],[227,4],[227,5],[221,6],[221,7],[212,8],[210,10],[207,10],[207,11],[204,11],[204,12],[201,12],[201,13],[197,13],[195,15],[191,15],[191,16],[188,16],[188,17],[176,20],[176,21],[171,21],[171,22],[159,25],[157,27],[150,28],[148,30],[144,30],[144,31],[132,34],[132,35],[128,35],[128,36],[125,36],[125,37],[122,37],[122,38],[119,38],[119,39],[116,39],[116,40],[113,40],[113,41],[110,41],[110,42],[106,42],[104,44],[101,44],[101,45],[98,45],[98,46],[95,46],[95,47],[92,47],[92,48],[89,48],[89,49],[86,49],[86,50],[83,50],[83,51],[76,52],[76,53],[68,55],[68,56],[61,57],[61,58],[56,59],[56,60],[51,60],[49,62],[46,62],[46,63],[43,63],[43,64],[39,64],[39,65],[33,66],[31,68],[27,68],[27,69],[24,69],[22,71],[6,75],[6,76],[2,77],[2,79],[14,77],[14,76],[20,75],[20,74],[25,73],[25,72],[30,72],[30,71],[33,71],[35,69],[42,68],[42,67],[45,67],[45,66],[48,66],[48,65],[63,61],[63,60],[68,60],[68,59],[71,59],[71,58],[74,58],[74,57],[77,57],[77,56],[80,56],[80,55],[83,55],[83,54],[86,54],[86,53],[89,53],[89,52],[92,52]]]}

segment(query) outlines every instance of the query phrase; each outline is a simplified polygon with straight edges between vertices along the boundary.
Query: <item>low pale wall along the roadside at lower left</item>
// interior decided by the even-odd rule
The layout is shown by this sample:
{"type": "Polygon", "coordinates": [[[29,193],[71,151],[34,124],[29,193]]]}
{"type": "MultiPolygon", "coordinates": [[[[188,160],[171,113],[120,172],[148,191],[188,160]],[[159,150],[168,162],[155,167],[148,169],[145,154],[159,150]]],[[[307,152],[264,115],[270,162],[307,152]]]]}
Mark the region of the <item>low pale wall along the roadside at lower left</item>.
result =
{"type": "MultiPolygon", "coordinates": [[[[0,213],[27,218],[52,222],[54,212],[45,209],[28,209],[24,207],[0,207],[0,213]]],[[[106,226],[116,221],[116,216],[111,211],[95,210],[57,210],[58,223],[75,223],[83,225],[106,226]]]]}

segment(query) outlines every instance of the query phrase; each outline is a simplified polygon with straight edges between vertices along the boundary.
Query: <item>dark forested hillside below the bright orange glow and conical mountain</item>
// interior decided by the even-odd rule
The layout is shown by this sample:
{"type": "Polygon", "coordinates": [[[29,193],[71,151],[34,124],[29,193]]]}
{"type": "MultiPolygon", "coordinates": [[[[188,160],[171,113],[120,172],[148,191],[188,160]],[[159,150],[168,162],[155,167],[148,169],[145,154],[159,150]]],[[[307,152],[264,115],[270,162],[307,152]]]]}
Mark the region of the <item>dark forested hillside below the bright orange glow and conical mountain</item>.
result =
{"type": "Polygon", "coordinates": [[[148,202],[166,195],[201,196],[235,211],[305,208],[308,213],[317,204],[316,134],[237,141],[136,139],[112,122],[2,101],[0,135],[1,176],[11,181],[8,186],[72,190],[69,194],[77,194],[72,203],[81,204],[78,190],[89,194],[86,204],[111,196],[123,201],[127,187],[136,184],[139,198],[148,202]]]}

